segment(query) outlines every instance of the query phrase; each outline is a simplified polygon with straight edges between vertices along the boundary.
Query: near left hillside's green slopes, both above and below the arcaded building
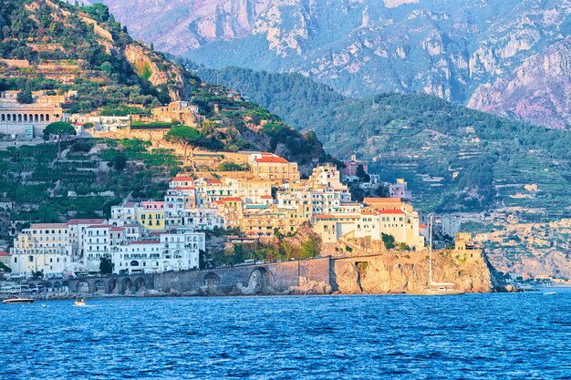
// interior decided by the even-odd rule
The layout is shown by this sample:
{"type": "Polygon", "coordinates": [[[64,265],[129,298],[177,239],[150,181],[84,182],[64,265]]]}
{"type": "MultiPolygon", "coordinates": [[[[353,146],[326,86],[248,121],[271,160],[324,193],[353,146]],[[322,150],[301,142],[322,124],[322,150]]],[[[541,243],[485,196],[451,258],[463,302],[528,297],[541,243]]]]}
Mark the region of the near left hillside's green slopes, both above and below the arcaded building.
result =
{"type": "MultiPolygon", "coordinates": [[[[171,100],[187,100],[199,110],[194,148],[272,151],[298,162],[305,174],[329,159],[315,133],[287,126],[267,109],[202,82],[134,41],[105,5],[5,0],[0,40],[0,91],[70,94],[67,113],[108,116],[150,113],[171,100]]],[[[161,133],[173,125],[159,126],[161,133]]],[[[10,222],[109,216],[110,206],[125,197],[157,198],[187,164],[174,149],[140,139],[64,141],[61,158],[54,144],[26,144],[0,135],[2,236],[10,222]]]]}

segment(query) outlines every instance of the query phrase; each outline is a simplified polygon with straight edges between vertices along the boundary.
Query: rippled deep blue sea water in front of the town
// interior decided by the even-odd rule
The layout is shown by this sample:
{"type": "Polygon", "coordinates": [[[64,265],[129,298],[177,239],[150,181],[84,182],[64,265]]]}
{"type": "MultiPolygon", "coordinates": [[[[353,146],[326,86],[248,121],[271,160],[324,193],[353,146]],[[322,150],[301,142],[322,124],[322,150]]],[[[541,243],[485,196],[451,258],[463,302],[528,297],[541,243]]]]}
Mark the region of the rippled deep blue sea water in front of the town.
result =
{"type": "Polygon", "coordinates": [[[571,376],[571,292],[0,306],[1,379],[571,376]]]}

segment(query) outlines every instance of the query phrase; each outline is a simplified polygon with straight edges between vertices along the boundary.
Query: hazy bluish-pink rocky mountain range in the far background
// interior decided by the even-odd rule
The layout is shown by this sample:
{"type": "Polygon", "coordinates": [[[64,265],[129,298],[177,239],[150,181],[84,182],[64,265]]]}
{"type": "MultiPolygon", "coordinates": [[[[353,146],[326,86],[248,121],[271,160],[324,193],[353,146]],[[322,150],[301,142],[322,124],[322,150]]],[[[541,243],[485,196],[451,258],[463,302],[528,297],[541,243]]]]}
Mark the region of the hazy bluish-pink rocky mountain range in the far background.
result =
{"type": "Polygon", "coordinates": [[[103,2],[138,38],[208,67],[295,71],[344,95],[420,92],[571,124],[569,0],[103,2]]]}

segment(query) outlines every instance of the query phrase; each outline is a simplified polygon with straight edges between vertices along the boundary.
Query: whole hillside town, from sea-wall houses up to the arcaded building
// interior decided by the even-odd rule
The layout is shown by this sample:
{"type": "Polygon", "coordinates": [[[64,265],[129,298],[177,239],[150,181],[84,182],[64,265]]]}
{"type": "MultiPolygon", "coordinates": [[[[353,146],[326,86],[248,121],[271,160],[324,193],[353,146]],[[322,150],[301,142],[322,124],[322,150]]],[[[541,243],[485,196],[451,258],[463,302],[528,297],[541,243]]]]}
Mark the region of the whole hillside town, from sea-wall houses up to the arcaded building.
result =
{"type": "MultiPolygon", "coordinates": [[[[240,98],[223,87],[215,91],[223,98],[240,98]]],[[[196,270],[427,247],[429,221],[412,206],[407,181],[381,182],[356,155],[343,161],[341,169],[319,164],[302,179],[296,162],[273,153],[187,149],[180,139],[168,139],[174,126],[205,122],[192,101],[70,113],[74,91],[32,91],[26,101],[22,96],[21,91],[0,93],[4,148],[61,139],[45,131],[64,122],[73,128],[66,139],[150,140],[153,148],[182,156],[191,172],[172,178],[162,199],[128,197],[111,208],[108,218],[32,223],[15,231],[12,247],[0,254],[12,279],[196,270]]],[[[214,107],[220,112],[228,106],[214,107]]],[[[435,248],[468,241],[479,251],[471,235],[459,234],[462,219],[472,218],[436,215],[435,248]]]]}

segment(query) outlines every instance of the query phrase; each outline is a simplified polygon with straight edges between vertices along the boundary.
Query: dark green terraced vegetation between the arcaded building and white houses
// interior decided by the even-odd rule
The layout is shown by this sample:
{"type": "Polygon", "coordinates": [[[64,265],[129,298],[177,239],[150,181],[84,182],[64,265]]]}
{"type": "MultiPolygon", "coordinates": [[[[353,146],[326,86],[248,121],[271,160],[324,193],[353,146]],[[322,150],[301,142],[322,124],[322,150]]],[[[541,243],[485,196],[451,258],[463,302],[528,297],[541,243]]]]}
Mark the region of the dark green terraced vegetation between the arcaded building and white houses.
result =
{"type": "Polygon", "coordinates": [[[129,194],[134,200],[160,198],[181,167],[171,151],[148,151],[149,143],[141,140],[79,139],[62,146],[62,159],[57,144],[0,151],[0,193],[14,201],[12,221],[109,217],[110,207],[129,194]],[[130,161],[130,170],[110,169],[119,154],[130,161]],[[109,190],[113,194],[105,194],[109,190]]]}

